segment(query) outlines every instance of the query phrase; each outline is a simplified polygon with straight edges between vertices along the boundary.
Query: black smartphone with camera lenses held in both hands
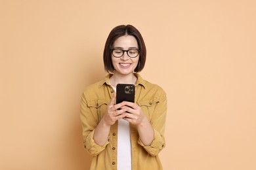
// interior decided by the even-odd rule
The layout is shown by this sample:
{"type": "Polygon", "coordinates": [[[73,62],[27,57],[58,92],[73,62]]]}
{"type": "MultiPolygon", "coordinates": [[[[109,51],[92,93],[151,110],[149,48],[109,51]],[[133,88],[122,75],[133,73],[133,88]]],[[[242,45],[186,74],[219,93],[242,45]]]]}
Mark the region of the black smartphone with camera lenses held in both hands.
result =
{"type": "Polygon", "coordinates": [[[135,85],[117,84],[116,86],[116,104],[122,101],[135,101],[135,85]]]}

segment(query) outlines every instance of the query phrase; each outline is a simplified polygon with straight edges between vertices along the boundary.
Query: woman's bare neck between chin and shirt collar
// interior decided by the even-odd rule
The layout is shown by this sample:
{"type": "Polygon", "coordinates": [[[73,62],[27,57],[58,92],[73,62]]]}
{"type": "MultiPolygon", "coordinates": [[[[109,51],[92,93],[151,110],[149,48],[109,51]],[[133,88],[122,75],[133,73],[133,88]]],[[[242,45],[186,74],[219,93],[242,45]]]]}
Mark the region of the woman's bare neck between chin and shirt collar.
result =
{"type": "Polygon", "coordinates": [[[114,87],[116,87],[117,84],[135,84],[136,82],[137,77],[133,73],[129,75],[114,73],[114,75],[110,77],[110,84],[114,87]]]}

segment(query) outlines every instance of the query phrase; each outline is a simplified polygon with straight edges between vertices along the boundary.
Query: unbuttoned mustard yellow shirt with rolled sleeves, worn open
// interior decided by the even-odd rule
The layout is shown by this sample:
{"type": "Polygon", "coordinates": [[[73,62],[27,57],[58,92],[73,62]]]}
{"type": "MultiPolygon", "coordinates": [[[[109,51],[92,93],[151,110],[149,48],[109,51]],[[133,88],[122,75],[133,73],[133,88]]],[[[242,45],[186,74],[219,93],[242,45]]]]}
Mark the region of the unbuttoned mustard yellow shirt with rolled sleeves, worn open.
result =
{"type": "MultiPolygon", "coordinates": [[[[81,98],[81,123],[83,144],[92,156],[91,170],[117,169],[117,123],[110,127],[108,141],[99,146],[93,140],[95,128],[107,110],[107,105],[114,94],[107,75],[100,82],[88,86],[81,98]]],[[[162,169],[158,153],[165,147],[163,136],[167,114],[165,92],[156,84],[143,80],[139,74],[135,84],[135,103],[140,106],[154,128],[154,139],[150,146],[140,141],[137,127],[130,124],[131,153],[133,170],[162,169]]]]}

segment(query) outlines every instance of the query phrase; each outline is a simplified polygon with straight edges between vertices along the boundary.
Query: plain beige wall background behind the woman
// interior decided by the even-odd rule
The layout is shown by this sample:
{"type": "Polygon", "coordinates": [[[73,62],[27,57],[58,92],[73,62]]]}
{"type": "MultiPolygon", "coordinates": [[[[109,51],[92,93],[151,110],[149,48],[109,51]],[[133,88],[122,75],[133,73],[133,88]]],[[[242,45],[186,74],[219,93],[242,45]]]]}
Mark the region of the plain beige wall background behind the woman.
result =
{"type": "Polygon", "coordinates": [[[256,1],[0,1],[0,169],[89,169],[79,103],[135,25],[168,97],[164,169],[256,169],[256,1]]]}

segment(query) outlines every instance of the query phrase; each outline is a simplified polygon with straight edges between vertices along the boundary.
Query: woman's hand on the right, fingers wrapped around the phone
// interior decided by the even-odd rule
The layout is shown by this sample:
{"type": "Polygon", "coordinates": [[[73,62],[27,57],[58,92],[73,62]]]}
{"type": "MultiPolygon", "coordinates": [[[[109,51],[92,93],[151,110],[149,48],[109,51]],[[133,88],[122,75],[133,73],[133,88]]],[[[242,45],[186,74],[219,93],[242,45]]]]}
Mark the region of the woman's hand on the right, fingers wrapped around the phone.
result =
{"type": "Polygon", "coordinates": [[[146,115],[142,111],[142,109],[137,105],[136,103],[128,102],[128,101],[123,101],[122,102],[125,107],[123,109],[128,108],[127,114],[125,114],[124,120],[130,122],[131,124],[134,124],[136,126],[148,122],[148,119],[146,118],[146,115]]]}

